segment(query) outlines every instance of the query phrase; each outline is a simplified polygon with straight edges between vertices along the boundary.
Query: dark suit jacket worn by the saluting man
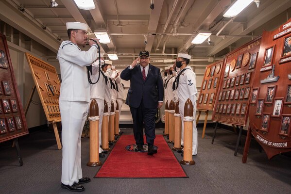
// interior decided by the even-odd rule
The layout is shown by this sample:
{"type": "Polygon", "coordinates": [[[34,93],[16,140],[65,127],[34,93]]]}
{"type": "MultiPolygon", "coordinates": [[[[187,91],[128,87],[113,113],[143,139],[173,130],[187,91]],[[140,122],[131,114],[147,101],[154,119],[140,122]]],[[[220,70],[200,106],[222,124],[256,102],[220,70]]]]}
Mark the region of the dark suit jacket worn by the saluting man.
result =
{"type": "Polygon", "coordinates": [[[143,81],[140,66],[137,65],[133,69],[128,66],[121,72],[120,78],[130,80],[125,102],[128,106],[138,108],[143,98],[144,107],[154,109],[157,108],[158,101],[163,101],[164,87],[159,68],[150,65],[147,78],[143,81]]]}

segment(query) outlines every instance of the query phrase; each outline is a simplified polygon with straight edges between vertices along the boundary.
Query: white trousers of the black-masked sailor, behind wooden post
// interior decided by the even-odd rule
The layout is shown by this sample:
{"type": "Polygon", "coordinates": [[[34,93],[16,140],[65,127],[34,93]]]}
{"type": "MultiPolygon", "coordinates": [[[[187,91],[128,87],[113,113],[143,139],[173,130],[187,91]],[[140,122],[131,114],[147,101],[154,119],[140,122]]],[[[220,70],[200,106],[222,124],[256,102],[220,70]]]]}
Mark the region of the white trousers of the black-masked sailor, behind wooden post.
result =
{"type": "MultiPolygon", "coordinates": [[[[184,146],[184,106],[185,106],[185,102],[184,103],[179,103],[179,112],[181,115],[181,120],[182,120],[182,132],[181,132],[181,145],[184,146]]],[[[197,154],[197,148],[198,148],[198,131],[196,128],[196,103],[194,104],[193,107],[193,128],[192,128],[192,135],[193,135],[193,140],[192,140],[192,155],[196,155],[197,154]]]]}

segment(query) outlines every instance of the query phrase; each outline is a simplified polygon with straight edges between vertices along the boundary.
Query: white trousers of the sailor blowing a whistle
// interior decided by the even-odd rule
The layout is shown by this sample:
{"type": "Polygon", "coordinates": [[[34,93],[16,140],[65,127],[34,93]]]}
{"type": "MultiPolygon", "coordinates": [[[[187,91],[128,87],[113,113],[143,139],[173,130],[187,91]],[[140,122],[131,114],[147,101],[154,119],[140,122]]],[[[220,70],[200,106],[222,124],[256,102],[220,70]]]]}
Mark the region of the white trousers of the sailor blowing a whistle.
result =
{"type": "Polygon", "coordinates": [[[88,114],[88,102],[60,101],[62,117],[62,179],[73,185],[83,177],[81,168],[81,135],[88,114]]]}

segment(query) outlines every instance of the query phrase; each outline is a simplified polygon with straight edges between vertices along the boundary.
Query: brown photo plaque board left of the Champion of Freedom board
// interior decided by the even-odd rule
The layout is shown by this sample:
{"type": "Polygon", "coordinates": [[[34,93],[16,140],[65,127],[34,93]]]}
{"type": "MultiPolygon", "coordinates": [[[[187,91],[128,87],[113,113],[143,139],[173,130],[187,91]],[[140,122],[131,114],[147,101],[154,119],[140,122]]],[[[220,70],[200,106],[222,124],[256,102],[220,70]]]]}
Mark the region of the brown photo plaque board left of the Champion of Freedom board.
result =
{"type": "Polygon", "coordinates": [[[245,126],[261,37],[227,54],[212,120],[245,126]]]}

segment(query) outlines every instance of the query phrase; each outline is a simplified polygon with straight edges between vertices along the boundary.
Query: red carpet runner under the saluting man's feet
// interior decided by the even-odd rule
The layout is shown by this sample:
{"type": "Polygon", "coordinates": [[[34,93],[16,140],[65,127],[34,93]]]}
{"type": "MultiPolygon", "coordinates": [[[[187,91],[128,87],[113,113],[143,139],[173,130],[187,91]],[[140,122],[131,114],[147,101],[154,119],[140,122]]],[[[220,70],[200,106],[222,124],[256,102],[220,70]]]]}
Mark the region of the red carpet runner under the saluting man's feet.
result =
{"type": "Polygon", "coordinates": [[[133,135],[121,135],[95,178],[184,178],[188,177],[162,135],[156,135],[157,154],[130,152],[133,135]]]}

